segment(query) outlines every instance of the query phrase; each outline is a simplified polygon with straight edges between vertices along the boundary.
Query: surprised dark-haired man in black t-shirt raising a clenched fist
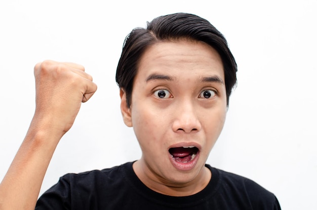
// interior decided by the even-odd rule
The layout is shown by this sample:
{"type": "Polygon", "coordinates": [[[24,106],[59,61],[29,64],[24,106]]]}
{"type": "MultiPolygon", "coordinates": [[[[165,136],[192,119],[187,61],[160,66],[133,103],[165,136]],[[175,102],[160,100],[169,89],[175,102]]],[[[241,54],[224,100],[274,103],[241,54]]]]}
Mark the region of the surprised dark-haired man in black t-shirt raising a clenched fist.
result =
{"type": "MultiPolygon", "coordinates": [[[[0,186],[1,209],[34,208],[59,140],[97,89],[78,64],[45,61],[34,73],[35,114],[0,186]]],[[[177,13],[134,29],[116,81],[124,122],[133,127],[142,157],[65,175],[35,209],[280,209],[253,181],[206,164],[235,73],[225,38],[203,18],[177,13]]]]}

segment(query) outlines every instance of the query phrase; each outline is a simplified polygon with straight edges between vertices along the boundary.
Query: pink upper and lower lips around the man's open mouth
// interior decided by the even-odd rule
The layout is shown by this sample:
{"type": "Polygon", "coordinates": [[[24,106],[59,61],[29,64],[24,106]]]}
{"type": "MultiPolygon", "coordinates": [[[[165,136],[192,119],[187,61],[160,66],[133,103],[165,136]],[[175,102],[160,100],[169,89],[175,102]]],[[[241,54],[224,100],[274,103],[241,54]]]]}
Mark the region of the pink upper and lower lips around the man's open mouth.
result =
{"type": "Polygon", "coordinates": [[[169,147],[169,149],[171,149],[171,148],[176,148],[176,147],[190,147],[190,146],[197,147],[198,151],[197,151],[195,157],[192,160],[190,160],[189,162],[178,162],[169,153],[170,161],[171,161],[172,165],[179,171],[190,171],[195,167],[195,165],[197,164],[197,161],[199,160],[199,157],[200,157],[201,146],[197,143],[194,143],[194,142],[183,142],[183,143],[177,143],[177,144],[171,145],[171,147],[169,147]]]}

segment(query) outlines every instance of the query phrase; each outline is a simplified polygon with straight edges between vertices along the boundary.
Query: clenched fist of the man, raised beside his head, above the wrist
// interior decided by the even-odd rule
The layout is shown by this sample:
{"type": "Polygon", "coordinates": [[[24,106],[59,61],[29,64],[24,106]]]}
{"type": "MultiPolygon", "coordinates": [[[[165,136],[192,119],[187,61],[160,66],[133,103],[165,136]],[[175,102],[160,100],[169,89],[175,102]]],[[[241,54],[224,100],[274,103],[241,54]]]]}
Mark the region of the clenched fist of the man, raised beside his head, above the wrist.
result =
{"type": "Polygon", "coordinates": [[[44,61],[34,67],[36,108],[33,120],[65,134],[72,126],[81,103],[97,86],[82,65],[44,61]]]}

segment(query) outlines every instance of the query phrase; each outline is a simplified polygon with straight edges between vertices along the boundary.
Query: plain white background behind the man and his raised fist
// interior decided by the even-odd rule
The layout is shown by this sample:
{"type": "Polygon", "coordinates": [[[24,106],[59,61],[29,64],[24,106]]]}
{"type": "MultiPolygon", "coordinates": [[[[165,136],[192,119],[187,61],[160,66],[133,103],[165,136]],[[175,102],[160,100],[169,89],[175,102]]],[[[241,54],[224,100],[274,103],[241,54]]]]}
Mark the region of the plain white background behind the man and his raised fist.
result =
{"type": "Polygon", "coordinates": [[[41,193],[66,173],[140,157],[120,113],[115,69],[125,36],[156,16],[188,12],[227,38],[239,71],[208,163],[258,182],[283,209],[317,209],[317,1],[2,1],[0,179],[34,112],[33,66],[84,65],[98,91],[58,145],[41,193]]]}

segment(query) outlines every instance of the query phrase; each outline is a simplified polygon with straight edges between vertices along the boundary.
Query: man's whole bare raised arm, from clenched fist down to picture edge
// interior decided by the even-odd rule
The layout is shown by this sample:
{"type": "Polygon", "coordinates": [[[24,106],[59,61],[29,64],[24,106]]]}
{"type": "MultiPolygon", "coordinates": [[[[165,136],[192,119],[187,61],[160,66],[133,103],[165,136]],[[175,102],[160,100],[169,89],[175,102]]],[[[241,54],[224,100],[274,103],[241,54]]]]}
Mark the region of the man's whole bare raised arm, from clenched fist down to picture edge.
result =
{"type": "Polygon", "coordinates": [[[29,130],[0,184],[0,209],[34,209],[55,148],[97,90],[83,66],[45,61],[34,67],[36,108],[29,130]]]}

